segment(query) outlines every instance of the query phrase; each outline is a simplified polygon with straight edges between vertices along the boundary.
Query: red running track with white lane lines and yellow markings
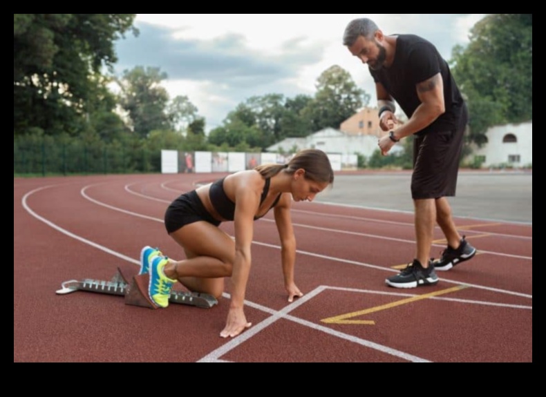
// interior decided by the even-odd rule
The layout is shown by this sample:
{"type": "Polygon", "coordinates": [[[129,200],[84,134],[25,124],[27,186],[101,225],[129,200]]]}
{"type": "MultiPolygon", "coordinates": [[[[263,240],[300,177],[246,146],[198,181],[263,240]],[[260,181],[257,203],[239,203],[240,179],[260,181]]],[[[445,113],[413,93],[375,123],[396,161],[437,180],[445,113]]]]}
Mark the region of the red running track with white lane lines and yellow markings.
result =
{"type": "MultiPolygon", "coordinates": [[[[14,179],[14,362],[532,362],[532,226],[461,219],[478,249],[433,287],[384,279],[413,258],[413,215],[294,203],[296,284],[287,302],[272,214],[256,221],[245,314],[220,338],[229,290],[211,309],[151,310],[67,280],[138,271],[140,249],[181,249],[167,205],[215,174],[14,179]]],[[[232,224],[221,226],[232,234],[232,224]]],[[[433,252],[445,246],[440,230],[433,252]]]]}

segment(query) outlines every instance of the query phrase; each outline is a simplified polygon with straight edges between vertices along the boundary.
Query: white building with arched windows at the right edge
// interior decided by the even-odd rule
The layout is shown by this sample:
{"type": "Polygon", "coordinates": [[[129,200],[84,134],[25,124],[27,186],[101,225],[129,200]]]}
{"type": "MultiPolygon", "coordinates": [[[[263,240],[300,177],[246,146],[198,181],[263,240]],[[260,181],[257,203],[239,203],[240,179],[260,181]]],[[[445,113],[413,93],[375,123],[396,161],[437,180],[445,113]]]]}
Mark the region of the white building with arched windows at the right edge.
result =
{"type": "Polygon", "coordinates": [[[471,158],[482,168],[523,168],[533,164],[533,122],[493,126],[485,133],[487,143],[473,146],[471,158]]]}

